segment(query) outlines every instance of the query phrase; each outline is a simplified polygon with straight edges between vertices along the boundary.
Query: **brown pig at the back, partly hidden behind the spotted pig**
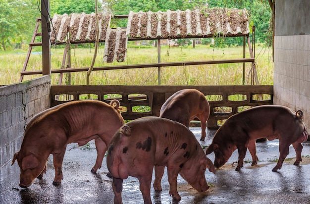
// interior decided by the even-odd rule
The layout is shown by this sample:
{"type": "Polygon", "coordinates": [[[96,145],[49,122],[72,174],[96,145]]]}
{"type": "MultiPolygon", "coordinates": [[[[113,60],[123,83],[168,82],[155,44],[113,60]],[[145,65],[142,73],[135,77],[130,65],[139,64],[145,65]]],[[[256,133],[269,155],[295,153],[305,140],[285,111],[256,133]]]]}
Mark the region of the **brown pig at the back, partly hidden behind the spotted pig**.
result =
{"type": "Polygon", "coordinates": [[[196,89],[183,89],[174,93],[160,108],[159,117],[168,118],[189,127],[195,117],[200,119],[201,138],[206,138],[207,119],[210,105],[203,93],[196,89]]]}

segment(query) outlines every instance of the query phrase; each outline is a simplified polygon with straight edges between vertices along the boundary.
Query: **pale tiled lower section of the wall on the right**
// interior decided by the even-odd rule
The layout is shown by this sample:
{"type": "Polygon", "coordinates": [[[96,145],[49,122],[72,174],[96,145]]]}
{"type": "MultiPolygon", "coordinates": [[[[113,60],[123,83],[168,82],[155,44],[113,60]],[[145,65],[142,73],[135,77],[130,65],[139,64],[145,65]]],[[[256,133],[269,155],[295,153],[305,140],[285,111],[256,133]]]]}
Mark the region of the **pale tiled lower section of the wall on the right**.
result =
{"type": "Polygon", "coordinates": [[[310,35],[275,36],[274,104],[304,112],[310,133],[310,35]]]}

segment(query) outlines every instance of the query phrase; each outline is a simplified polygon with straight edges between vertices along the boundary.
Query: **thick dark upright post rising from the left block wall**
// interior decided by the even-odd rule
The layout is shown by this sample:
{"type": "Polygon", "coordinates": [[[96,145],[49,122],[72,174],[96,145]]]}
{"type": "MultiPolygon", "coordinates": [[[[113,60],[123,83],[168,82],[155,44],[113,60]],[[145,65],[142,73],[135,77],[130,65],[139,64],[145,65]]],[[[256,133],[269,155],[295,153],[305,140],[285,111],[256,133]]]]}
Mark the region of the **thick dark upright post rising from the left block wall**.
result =
{"type": "Polygon", "coordinates": [[[42,74],[51,74],[51,33],[50,0],[41,0],[42,19],[42,74]]]}

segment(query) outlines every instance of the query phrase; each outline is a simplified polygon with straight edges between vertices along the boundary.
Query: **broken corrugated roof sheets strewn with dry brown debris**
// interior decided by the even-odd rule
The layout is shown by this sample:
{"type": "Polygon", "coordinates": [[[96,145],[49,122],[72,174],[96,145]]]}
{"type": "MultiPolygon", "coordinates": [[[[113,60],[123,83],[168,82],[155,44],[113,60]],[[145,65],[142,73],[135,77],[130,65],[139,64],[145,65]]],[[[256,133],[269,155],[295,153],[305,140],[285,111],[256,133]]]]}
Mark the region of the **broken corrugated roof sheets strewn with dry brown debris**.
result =
{"type": "MultiPolygon", "coordinates": [[[[99,40],[106,42],[103,60],[124,61],[127,40],[212,37],[214,35],[247,35],[250,32],[245,9],[207,8],[191,11],[143,12],[128,15],[127,29],[111,29],[110,13],[99,13],[99,40]]],[[[95,13],[55,14],[51,41],[65,43],[96,41],[95,13]]]]}

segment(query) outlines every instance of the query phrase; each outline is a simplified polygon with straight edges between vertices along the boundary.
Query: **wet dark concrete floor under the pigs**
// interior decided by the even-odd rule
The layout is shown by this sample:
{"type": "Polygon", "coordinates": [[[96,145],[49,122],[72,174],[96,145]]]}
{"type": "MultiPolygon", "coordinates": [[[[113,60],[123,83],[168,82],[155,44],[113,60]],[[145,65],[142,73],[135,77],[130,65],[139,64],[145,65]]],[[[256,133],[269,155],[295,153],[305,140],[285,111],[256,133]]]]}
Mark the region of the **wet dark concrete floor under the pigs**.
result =
{"type": "MultiPolygon", "coordinates": [[[[199,140],[201,129],[190,128],[199,140]]],[[[203,147],[211,143],[216,130],[208,129],[203,147]]],[[[290,154],[277,173],[272,172],[275,159],[279,157],[278,140],[257,144],[258,165],[251,166],[252,157],[248,152],[244,167],[235,171],[238,153],[235,151],[228,162],[217,169],[215,174],[206,171],[210,185],[207,192],[199,193],[182,178],[178,177],[180,202],[169,196],[167,174],[162,179],[162,192],[151,187],[152,202],[155,204],[309,204],[310,203],[310,143],[304,143],[303,161],[293,165],[295,151],[290,154]]],[[[111,204],[113,192],[111,179],[106,176],[105,158],[103,167],[97,174],[90,172],[96,160],[94,142],[89,146],[78,147],[69,144],[63,161],[63,180],[60,186],[53,186],[54,169],[52,155],[48,170],[42,180],[36,179],[27,189],[18,186],[20,170],[17,162],[0,168],[0,204],[111,204]]],[[[214,153],[208,157],[214,161],[214,153]]],[[[153,176],[154,179],[154,176],[153,176]]],[[[139,181],[129,177],[124,180],[122,198],[124,204],[142,204],[139,181]]]]}

